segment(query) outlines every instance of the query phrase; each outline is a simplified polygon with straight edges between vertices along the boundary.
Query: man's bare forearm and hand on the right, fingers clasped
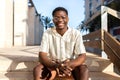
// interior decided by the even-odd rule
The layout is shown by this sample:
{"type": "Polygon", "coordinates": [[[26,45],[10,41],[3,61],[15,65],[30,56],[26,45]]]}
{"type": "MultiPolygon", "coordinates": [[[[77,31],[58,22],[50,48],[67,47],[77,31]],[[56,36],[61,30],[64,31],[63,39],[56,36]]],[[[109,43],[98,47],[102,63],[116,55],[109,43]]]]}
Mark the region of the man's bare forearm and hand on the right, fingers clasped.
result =
{"type": "Polygon", "coordinates": [[[59,71],[62,73],[62,74],[65,74],[65,75],[68,75],[70,76],[71,75],[71,71],[77,67],[77,66],[80,66],[82,65],[84,62],[85,62],[85,59],[86,59],[86,54],[83,53],[83,54],[80,54],[77,58],[75,59],[67,59],[65,61],[63,61],[61,63],[61,66],[59,67],[59,71]]]}

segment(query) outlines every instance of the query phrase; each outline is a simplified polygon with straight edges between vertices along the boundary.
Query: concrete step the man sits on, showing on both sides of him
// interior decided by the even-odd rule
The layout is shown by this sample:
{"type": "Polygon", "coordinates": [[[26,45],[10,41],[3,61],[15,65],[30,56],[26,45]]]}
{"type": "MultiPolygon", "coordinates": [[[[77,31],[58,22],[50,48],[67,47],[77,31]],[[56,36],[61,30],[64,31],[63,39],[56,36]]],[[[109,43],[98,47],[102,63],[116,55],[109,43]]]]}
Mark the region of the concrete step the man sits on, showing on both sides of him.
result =
{"type": "MultiPolygon", "coordinates": [[[[5,51],[0,53],[0,71],[32,71],[37,65],[38,47],[12,50],[9,50],[9,53],[5,53],[5,51]]],[[[95,54],[87,53],[86,64],[90,71],[113,72],[113,64],[110,60],[103,59],[95,54]]]]}

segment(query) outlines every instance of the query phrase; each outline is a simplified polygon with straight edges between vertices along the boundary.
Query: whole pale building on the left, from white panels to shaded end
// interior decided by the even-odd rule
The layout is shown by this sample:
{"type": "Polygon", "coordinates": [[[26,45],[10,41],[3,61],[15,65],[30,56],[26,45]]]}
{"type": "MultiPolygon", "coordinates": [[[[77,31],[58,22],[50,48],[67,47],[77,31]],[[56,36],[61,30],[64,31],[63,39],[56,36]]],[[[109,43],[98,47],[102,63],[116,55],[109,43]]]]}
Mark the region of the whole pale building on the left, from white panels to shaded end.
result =
{"type": "Polygon", "coordinates": [[[32,0],[0,2],[0,47],[40,44],[43,25],[32,0]]]}

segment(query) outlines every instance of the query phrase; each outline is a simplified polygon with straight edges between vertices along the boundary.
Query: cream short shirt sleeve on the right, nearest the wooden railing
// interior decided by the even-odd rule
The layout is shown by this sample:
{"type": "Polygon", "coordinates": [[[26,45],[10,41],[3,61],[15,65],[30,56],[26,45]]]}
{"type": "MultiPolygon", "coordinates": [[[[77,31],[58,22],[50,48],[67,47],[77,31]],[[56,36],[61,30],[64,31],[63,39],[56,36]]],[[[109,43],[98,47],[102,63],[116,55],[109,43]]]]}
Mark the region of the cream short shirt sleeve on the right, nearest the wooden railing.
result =
{"type": "Polygon", "coordinates": [[[79,54],[86,53],[85,46],[83,44],[83,38],[82,38],[82,35],[80,33],[76,36],[74,53],[76,56],[79,54]]]}

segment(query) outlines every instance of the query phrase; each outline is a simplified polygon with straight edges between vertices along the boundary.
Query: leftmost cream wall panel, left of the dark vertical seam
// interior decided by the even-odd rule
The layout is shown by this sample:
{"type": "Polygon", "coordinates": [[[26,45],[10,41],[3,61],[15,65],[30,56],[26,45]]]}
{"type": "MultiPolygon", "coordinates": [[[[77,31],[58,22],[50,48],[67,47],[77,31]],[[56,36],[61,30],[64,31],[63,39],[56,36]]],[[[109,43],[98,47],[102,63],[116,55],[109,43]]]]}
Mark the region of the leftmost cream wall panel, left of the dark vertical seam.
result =
{"type": "Polygon", "coordinates": [[[0,47],[13,45],[13,2],[0,0],[0,47]]]}

